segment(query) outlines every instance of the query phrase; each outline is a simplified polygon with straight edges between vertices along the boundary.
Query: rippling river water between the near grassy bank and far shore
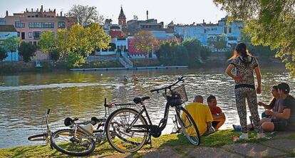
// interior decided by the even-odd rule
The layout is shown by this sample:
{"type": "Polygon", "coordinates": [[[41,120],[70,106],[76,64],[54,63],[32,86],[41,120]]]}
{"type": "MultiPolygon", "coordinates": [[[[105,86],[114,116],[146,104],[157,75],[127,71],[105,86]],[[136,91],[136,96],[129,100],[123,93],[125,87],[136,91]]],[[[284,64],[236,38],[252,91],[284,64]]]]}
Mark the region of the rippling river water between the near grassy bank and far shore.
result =
{"type": "MultiPolygon", "coordinates": [[[[180,75],[185,75],[189,102],[195,95],[202,95],[205,100],[209,95],[215,95],[218,106],[227,116],[222,129],[239,124],[234,82],[224,75],[224,68],[1,75],[0,148],[36,144],[29,142],[27,137],[41,132],[42,116],[47,108],[51,108],[52,130],[64,128],[63,120],[66,117],[79,117],[80,120],[102,117],[104,98],[108,98],[108,102],[122,103],[132,102],[137,96],[150,96],[151,99],[145,102],[152,122],[157,125],[164,115],[165,98],[161,94],[150,93],[150,90],[169,85],[180,75]],[[140,78],[139,82],[123,82],[124,75],[131,78],[133,74],[140,78]]],[[[289,83],[291,88],[295,85],[295,80],[289,77],[284,68],[264,68],[262,94],[258,95],[258,100],[268,102],[271,99],[271,86],[281,81],[289,83]]],[[[263,110],[259,107],[259,113],[263,110]]],[[[172,132],[174,114],[170,108],[170,119],[163,133],[172,132]]]]}

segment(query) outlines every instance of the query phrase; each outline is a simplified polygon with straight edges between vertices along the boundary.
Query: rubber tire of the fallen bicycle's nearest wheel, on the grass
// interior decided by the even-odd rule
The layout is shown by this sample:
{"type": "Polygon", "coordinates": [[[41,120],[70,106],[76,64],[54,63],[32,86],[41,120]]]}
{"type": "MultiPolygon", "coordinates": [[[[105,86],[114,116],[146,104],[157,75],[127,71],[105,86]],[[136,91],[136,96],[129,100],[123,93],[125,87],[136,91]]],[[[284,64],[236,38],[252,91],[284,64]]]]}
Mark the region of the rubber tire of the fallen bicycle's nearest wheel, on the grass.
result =
{"type": "MultiPolygon", "coordinates": [[[[68,151],[67,149],[63,149],[63,146],[67,147],[68,144],[65,145],[65,144],[63,144],[64,142],[58,144],[56,142],[55,138],[62,137],[62,136],[67,136],[67,135],[68,135],[68,137],[71,137],[73,134],[74,134],[74,131],[71,130],[71,129],[57,130],[56,132],[53,132],[53,135],[51,137],[52,146],[56,150],[58,150],[58,152],[62,152],[63,154],[68,154],[68,155],[75,156],[75,157],[83,157],[83,156],[86,156],[86,155],[90,154],[91,152],[93,152],[93,150],[95,149],[95,141],[92,138],[88,137],[83,132],[77,131],[76,134],[78,134],[78,135],[76,135],[76,137],[79,137],[79,136],[80,137],[81,136],[88,137],[90,148],[86,149],[86,151],[82,151],[82,152],[81,151],[79,151],[79,152],[68,151]]],[[[73,137],[71,139],[73,139],[73,137]]],[[[76,142],[72,142],[71,139],[69,139],[71,141],[70,144],[76,143],[76,142]]],[[[82,139],[82,137],[80,139],[82,139]]]]}

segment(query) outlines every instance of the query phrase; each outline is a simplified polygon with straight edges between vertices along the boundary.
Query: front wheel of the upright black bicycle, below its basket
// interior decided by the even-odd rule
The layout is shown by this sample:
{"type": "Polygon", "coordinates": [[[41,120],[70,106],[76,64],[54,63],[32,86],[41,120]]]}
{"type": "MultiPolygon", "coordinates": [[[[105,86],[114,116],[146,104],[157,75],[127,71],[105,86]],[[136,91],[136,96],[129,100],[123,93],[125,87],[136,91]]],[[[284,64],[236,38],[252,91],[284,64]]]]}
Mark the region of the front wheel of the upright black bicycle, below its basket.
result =
{"type": "Polygon", "coordinates": [[[187,112],[187,110],[185,110],[183,107],[176,107],[175,110],[177,114],[177,120],[180,123],[180,127],[182,128],[182,134],[184,134],[193,145],[199,145],[201,142],[200,132],[197,129],[197,125],[192,119],[190,113],[187,112]]]}

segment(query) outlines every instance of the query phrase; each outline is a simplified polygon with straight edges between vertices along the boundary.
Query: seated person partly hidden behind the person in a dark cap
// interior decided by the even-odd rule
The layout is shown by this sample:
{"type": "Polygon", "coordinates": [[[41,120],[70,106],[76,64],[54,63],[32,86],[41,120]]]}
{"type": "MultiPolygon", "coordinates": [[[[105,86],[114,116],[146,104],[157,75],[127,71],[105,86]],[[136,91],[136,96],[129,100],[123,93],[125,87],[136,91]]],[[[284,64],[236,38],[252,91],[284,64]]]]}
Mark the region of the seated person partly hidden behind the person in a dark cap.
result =
{"type": "MultiPolygon", "coordinates": [[[[278,113],[283,112],[283,106],[282,106],[283,100],[280,98],[278,86],[274,85],[272,87],[271,94],[272,96],[274,96],[274,98],[272,98],[269,105],[266,105],[263,102],[258,102],[258,105],[261,105],[266,110],[271,110],[272,112],[278,112],[278,113]]],[[[264,122],[271,122],[271,118],[274,118],[274,117],[266,115],[265,112],[262,112],[262,120],[260,120],[260,124],[262,125],[262,123],[264,122]]]]}

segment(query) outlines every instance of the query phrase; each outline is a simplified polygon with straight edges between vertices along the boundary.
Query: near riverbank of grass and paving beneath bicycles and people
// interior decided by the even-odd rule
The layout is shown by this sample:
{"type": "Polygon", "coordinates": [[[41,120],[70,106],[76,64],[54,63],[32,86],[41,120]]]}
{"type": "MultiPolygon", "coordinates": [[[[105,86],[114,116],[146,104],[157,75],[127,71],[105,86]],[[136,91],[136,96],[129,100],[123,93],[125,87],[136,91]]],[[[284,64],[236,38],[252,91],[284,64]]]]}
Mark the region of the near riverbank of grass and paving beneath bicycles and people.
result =
{"type": "MultiPolygon", "coordinates": [[[[88,157],[294,157],[295,132],[277,132],[271,139],[250,139],[234,142],[240,135],[232,130],[220,130],[201,138],[198,147],[192,146],[183,135],[162,135],[152,139],[152,148],[145,145],[133,154],[120,154],[108,143],[95,148],[88,157]]],[[[0,149],[0,157],[68,157],[46,145],[0,149]]]]}

